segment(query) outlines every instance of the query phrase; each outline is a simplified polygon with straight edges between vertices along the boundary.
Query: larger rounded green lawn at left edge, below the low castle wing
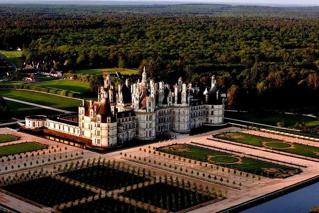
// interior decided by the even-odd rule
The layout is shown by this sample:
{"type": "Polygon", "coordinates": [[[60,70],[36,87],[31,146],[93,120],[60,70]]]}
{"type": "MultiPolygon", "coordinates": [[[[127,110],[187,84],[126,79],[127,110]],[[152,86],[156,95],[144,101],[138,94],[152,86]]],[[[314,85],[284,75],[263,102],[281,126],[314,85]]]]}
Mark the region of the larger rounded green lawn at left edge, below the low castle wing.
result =
{"type": "Polygon", "coordinates": [[[45,146],[38,143],[21,143],[0,147],[0,156],[13,155],[43,149],[45,146]]]}

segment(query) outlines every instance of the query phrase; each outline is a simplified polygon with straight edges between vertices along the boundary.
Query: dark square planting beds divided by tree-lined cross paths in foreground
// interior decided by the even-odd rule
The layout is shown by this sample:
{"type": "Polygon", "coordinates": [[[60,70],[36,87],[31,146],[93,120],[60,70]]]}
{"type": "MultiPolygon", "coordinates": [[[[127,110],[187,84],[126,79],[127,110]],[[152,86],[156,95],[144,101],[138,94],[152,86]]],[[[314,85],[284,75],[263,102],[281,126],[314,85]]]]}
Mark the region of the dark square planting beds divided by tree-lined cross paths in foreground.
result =
{"type": "Polygon", "coordinates": [[[63,213],[177,212],[226,198],[208,186],[101,158],[60,164],[50,173],[41,169],[2,177],[0,184],[6,194],[63,213]]]}

